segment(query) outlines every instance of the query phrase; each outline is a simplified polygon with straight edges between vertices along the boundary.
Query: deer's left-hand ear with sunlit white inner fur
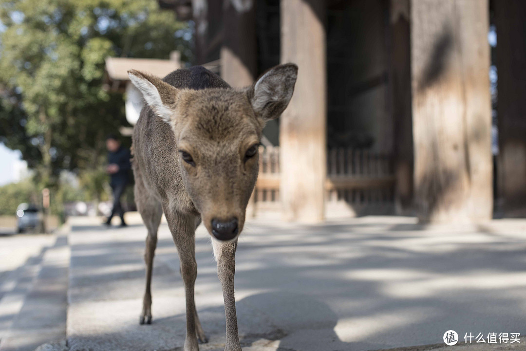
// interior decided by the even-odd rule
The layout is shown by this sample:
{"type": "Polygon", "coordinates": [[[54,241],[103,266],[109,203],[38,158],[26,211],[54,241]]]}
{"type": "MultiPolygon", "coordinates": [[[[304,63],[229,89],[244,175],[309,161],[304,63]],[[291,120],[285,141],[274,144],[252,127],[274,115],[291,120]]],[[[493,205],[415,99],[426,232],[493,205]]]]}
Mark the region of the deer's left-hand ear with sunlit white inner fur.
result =
{"type": "Polygon", "coordinates": [[[143,94],[146,104],[157,116],[169,123],[174,115],[178,90],[158,77],[142,73],[135,69],[128,71],[133,85],[143,94]]]}

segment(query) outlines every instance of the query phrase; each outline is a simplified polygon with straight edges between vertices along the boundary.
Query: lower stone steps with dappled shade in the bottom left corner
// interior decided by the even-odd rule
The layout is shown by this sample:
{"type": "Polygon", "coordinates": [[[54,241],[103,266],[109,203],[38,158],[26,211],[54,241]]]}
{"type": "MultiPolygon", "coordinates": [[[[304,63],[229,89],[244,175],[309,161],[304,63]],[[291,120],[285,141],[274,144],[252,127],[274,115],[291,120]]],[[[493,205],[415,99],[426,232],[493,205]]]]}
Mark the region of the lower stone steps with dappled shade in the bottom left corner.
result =
{"type": "Polygon", "coordinates": [[[0,351],[32,351],[64,339],[67,236],[2,236],[0,243],[0,351]]]}

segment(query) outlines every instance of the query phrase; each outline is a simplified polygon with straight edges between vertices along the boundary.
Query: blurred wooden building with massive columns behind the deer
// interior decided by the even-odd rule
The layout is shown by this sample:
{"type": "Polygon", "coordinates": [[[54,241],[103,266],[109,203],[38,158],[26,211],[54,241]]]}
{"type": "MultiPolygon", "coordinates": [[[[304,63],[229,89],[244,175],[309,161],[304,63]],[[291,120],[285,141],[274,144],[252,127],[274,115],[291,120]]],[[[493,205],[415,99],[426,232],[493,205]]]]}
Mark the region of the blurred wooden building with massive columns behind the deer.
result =
{"type": "Polygon", "coordinates": [[[265,129],[253,214],[524,215],[524,2],[159,4],[195,22],[195,64],[232,86],[299,65],[289,108],[265,129]]]}

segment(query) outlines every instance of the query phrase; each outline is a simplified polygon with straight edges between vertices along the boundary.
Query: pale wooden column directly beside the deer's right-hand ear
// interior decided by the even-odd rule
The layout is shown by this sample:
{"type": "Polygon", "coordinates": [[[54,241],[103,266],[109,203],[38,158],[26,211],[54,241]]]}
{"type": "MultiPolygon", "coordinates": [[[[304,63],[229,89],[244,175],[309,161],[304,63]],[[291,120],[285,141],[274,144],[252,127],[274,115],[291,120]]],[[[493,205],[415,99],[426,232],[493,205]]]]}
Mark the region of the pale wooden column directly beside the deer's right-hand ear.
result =
{"type": "Polygon", "coordinates": [[[286,220],[324,217],[326,177],[325,1],[281,0],[281,62],[299,66],[280,118],[280,196],[286,220]]]}

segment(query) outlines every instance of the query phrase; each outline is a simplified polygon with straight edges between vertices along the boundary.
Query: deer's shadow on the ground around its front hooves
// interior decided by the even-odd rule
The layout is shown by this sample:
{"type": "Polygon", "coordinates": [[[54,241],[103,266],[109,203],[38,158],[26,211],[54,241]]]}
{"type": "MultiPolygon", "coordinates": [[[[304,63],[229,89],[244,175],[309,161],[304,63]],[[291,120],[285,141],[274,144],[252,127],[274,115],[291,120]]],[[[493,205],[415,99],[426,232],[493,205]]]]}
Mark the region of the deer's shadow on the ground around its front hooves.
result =
{"type": "MultiPolygon", "coordinates": [[[[334,331],[338,316],[316,298],[291,292],[268,292],[247,296],[236,302],[241,347],[267,346],[277,350],[380,349],[375,343],[348,343],[334,331]],[[318,346],[319,345],[319,346],[318,346]]],[[[208,334],[209,351],[221,350],[225,342],[223,306],[200,309],[199,319],[208,334]]],[[[185,315],[155,319],[155,324],[184,328],[185,315]]],[[[182,349],[182,348],[181,348],[182,349]]],[[[270,348],[269,348],[270,349],[270,348]]],[[[179,348],[174,349],[179,350],[179,348]]]]}

